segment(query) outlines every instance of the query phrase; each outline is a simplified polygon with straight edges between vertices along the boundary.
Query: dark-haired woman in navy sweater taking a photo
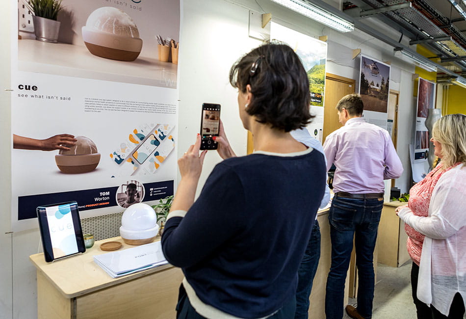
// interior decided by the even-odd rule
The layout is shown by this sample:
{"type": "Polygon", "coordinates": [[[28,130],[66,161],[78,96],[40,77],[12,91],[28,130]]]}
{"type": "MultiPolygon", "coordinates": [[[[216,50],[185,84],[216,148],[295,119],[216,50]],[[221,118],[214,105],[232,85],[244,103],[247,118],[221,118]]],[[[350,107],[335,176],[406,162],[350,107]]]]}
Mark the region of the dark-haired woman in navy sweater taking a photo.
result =
{"type": "Polygon", "coordinates": [[[239,59],[230,82],[255,153],[235,157],[221,127],[225,160],[196,201],[206,154],[199,135],[178,161],[162,236],[165,257],[185,276],[177,318],[293,318],[297,270],[326,180],[323,155],[289,133],[310,122],[308,78],[291,48],[269,43],[239,59]]]}

